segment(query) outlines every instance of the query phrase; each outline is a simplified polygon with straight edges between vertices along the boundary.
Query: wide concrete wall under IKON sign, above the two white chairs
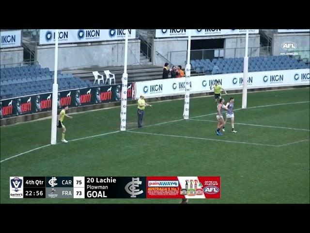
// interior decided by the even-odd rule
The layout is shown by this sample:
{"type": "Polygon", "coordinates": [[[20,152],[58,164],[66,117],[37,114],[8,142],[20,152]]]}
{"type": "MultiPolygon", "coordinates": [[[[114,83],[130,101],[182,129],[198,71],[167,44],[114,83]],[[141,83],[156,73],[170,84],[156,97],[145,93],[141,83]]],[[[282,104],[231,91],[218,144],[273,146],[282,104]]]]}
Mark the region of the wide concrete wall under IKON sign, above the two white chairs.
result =
{"type": "MultiPolygon", "coordinates": [[[[97,43],[60,44],[58,69],[124,66],[124,40],[97,43]]],[[[37,46],[35,60],[54,70],[55,46],[37,46]]],[[[128,40],[128,66],[140,62],[140,40],[128,40]]]]}

